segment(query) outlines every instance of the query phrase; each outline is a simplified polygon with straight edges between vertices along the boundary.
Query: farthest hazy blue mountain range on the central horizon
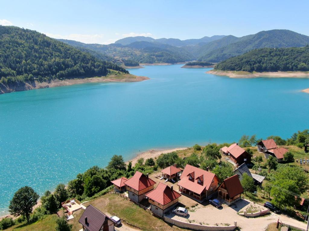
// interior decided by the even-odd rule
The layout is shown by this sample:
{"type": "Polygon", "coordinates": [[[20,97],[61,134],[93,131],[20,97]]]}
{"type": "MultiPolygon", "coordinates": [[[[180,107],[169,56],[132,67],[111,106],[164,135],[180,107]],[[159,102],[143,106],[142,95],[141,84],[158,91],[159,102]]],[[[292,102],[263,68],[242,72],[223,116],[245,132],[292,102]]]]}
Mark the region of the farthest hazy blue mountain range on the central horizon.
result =
{"type": "Polygon", "coordinates": [[[186,39],[186,40],[180,40],[180,39],[153,39],[151,37],[144,37],[144,36],[137,36],[137,37],[127,37],[124,39],[119,39],[115,43],[116,44],[122,44],[122,45],[128,45],[130,43],[134,42],[157,42],[157,43],[163,43],[163,44],[168,44],[171,46],[175,47],[182,47],[182,46],[187,46],[187,45],[196,45],[198,43],[209,43],[214,40],[222,39],[225,37],[225,35],[214,35],[211,37],[203,37],[201,39],[186,39]]]}

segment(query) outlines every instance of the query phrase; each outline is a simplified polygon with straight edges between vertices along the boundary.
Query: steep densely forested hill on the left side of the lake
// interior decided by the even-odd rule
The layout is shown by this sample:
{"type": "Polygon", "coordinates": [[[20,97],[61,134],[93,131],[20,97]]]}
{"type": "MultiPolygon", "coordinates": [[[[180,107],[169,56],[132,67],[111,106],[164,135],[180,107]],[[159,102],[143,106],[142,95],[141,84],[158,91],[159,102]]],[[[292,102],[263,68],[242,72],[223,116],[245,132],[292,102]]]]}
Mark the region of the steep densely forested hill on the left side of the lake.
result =
{"type": "Polygon", "coordinates": [[[0,81],[2,84],[72,77],[104,76],[124,68],[34,30],[0,26],[0,81]]]}

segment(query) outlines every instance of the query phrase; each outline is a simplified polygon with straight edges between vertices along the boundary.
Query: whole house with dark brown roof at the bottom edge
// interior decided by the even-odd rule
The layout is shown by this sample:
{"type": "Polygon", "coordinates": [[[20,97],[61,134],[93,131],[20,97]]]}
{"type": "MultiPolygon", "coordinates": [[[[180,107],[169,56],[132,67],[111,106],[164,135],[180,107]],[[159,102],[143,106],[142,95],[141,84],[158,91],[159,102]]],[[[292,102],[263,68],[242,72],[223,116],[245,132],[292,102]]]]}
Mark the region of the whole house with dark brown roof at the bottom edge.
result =
{"type": "Polygon", "coordinates": [[[83,225],[83,231],[114,231],[114,222],[96,209],[88,205],[78,222],[83,225]]]}

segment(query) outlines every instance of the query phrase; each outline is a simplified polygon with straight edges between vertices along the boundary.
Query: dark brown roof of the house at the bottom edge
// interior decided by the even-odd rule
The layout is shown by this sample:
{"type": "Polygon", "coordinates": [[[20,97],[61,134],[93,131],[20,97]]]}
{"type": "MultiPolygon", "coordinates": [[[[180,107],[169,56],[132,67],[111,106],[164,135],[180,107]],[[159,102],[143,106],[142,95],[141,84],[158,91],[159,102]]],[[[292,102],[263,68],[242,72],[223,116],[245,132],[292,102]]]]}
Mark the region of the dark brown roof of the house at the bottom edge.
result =
{"type": "Polygon", "coordinates": [[[99,209],[96,209],[92,205],[88,205],[78,222],[89,231],[99,231],[106,220],[110,220],[110,218],[99,209]],[[87,224],[85,223],[85,217],[87,217],[87,224]]]}

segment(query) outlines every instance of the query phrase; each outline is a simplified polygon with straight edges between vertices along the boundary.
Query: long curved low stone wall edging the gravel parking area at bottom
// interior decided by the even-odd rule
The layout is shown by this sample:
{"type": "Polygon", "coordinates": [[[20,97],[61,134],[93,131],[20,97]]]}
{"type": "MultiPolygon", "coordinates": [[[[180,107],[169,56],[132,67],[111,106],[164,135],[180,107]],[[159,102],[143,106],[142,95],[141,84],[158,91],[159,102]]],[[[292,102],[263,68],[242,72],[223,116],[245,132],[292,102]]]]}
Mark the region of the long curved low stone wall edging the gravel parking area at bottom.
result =
{"type": "Polygon", "coordinates": [[[166,221],[167,223],[176,225],[179,228],[201,230],[201,231],[232,231],[237,228],[236,221],[234,221],[234,225],[231,225],[231,226],[199,225],[199,224],[187,223],[187,222],[182,222],[182,221],[176,221],[169,217],[164,217],[164,221],[166,221]]]}

